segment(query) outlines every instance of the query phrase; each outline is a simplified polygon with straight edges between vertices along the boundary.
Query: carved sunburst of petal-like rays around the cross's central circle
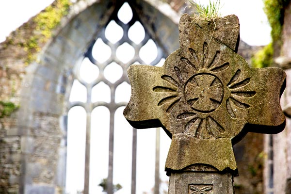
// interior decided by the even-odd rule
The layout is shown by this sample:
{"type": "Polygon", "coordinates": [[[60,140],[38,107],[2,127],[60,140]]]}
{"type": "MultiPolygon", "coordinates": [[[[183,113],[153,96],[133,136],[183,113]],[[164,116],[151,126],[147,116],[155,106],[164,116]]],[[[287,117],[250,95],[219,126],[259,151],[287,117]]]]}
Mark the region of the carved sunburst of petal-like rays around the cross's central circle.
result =
{"type": "Polygon", "coordinates": [[[225,129],[214,119],[213,113],[225,104],[227,113],[232,119],[236,119],[238,108],[248,109],[250,105],[241,99],[256,94],[255,91],[244,89],[251,78],[243,79],[242,71],[238,69],[234,75],[229,75],[228,82],[223,82],[219,77],[220,72],[229,68],[230,64],[221,60],[221,50],[210,56],[207,43],[203,45],[201,57],[192,48],[189,48],[188,52],[190,55],[182,56],[180,62],[174,66],[173,72],[176,76],[162,76],[162,80],[170,83],[172,87],[153,88],[154,92],[167,94],[158,102],[158,106],[165,106],[166,113],[173,113],[175,106],[184,103],[189,109],[178,113],[176,117],[185,122],[184,132],[198,138],[222,137],[225,129]],[[193,73],[183,75],[180,69],[185,67],[190,67],[193,73]]]}

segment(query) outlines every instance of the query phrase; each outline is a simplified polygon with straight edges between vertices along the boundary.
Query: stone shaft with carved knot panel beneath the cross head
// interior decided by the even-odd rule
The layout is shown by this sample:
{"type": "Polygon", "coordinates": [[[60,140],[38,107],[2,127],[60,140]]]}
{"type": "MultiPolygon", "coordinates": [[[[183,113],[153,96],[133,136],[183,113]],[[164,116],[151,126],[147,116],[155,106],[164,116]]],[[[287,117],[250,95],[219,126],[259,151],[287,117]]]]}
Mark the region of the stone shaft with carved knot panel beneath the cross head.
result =
{"type": "Polygon", "coordinates": [[[221,172],[171,173],[168,194],[233,194],[233,175],[221,172]]]}

